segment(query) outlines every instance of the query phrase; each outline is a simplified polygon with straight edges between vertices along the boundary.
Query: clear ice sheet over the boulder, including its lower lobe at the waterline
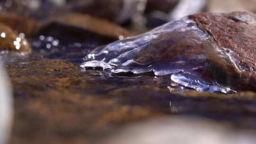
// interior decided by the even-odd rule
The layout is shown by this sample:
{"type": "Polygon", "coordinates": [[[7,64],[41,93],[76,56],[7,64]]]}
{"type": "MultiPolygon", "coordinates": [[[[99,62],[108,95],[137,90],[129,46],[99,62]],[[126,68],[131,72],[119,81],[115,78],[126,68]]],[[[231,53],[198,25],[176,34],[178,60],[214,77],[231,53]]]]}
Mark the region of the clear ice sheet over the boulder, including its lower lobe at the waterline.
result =
{"type": "Polygon", "coordinates": [[[190,75],[192,77],[186,81],[176,75],[173,77],[183,81],[177,82],[180,85],[198,91],[232,91],[212,80],[206,61],[205,43],[211,43],[210,36],[195,21],[183,18],[145,34],[97,47],[85,57],[81,67],[84,70],[101,67],[103,71],[116,74],[153,72],[156,76],[189,72],[193,76],[190,75]],[[210,84],[195,81],[205,81],[205,78],[211,80],[210,84]]]}

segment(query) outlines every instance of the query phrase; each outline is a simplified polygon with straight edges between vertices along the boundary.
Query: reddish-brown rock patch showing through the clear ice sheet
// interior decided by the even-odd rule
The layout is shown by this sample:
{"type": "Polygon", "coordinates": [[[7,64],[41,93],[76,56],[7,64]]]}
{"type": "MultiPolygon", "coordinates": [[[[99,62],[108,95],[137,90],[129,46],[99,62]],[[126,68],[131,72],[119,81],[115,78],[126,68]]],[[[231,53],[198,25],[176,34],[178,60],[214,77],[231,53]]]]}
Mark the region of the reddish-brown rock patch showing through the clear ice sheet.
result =
{"type": "MultiPolygon", "coordinates": [[[[173,24],[171,26],[176,25],[173,24]]],[[[196,23],[191,22],[187,27],[196,27],[196,23]]],[[[175,29],[161,32],[159,36],[151,40],[146,49],[138,52],[135,61],[138,63],[150,63],[158,59],[172,59],[179,55],[195,56],[204,54],[202,43],[197,42],[200,41],[200,31],[184,30],[187,27],[183,28],[183,31],[175,29]]]]}

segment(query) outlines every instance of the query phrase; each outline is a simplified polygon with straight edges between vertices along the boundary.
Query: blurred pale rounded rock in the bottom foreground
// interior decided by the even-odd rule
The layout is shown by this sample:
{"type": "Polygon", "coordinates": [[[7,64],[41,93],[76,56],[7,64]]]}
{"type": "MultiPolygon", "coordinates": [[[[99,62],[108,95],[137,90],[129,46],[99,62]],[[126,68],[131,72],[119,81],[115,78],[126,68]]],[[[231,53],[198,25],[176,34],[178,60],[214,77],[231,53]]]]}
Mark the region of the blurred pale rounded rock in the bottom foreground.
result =
{"type": "Polygon", "coordinates": [[[254,144],[255,133],[195,117],[165,117],[126,126],[99,144],[254,144]]]}

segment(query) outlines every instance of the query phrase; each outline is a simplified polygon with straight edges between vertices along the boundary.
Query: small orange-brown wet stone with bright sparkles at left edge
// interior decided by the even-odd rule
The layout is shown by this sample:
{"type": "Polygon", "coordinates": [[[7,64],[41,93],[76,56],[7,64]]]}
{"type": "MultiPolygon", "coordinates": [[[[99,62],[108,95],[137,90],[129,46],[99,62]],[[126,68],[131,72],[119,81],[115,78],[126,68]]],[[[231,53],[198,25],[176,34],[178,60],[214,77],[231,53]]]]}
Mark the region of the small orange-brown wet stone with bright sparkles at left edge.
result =
{"type": "Polygon", "coordinates": [[[31,52],[24,34],[19,36],[7,25],[0,23],[0,51],[31,52]]]}

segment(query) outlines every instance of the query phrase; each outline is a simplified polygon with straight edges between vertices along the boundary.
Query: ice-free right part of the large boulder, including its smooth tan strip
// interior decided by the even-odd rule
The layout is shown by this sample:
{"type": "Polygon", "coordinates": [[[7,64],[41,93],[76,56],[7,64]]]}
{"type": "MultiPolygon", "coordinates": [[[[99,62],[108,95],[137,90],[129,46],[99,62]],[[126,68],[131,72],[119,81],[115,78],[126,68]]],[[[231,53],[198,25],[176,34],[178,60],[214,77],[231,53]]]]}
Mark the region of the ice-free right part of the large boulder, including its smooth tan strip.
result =
{"type": "Polygon", "coordinates": [[[213,37],[215,44],[205,44],[205,49],[215,79],[238,90],[255,91],[255,14],[200,13],[189,18],[197,21],[201,29],[213,37]]]}

